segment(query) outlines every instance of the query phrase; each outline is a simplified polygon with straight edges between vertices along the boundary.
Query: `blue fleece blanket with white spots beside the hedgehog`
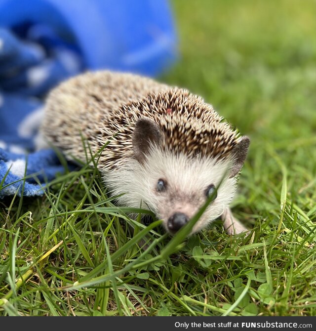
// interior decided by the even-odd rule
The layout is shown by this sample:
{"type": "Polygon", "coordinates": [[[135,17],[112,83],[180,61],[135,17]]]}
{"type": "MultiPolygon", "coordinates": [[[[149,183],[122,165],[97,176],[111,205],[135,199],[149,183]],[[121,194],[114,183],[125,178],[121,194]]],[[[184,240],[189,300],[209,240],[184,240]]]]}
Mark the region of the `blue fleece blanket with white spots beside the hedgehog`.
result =
{"type": "Polygon", "coordinates": [[[42,195],[63,171],[53,150],[37,151],[42,97],[81,70],[79,54],[47,27],[24,41],[0,29],[0,196],[42,195]]]}

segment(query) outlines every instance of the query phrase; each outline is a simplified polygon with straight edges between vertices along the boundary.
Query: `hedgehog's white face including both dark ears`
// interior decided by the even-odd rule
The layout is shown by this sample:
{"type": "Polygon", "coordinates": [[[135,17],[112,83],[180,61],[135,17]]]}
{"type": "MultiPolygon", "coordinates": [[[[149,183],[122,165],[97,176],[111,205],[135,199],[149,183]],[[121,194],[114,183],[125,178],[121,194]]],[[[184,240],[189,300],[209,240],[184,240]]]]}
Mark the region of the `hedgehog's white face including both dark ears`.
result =
{"type": "Polygon", "coordinates": [[[153,210],[163,220],[164,228],[175,233],[212,196],[213,201],[192,230],[197,232],[219,217],[232,201],[249,139],[241,139],[232,157],[224,160],[163,151],[162,139],[163,134],[153,121],[137,122],[133,134],[136,160],[129,165],[125,199],[133,202],[134,207],[153,210]]]}

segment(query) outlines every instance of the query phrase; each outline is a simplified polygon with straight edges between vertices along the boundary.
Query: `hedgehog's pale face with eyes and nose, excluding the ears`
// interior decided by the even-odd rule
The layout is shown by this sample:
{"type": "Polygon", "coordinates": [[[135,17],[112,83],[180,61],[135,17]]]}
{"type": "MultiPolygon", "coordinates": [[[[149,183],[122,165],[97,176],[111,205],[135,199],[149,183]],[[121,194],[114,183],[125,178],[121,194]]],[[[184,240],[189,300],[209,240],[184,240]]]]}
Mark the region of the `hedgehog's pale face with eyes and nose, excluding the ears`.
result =
{"type": "Polygon", "coordinates": [[[219,217],[232,201],[236,178],[229,178],[230,163],[210,158],[188,158],[154,148],[139,170],[137,192],[143,207],[163,220],[164,228],[174,234],[197,213],[206,200],[213,200],[193,228],[205,228],[219,217]],[[222,180],[223,179],[223,180],[222,180]]]}

